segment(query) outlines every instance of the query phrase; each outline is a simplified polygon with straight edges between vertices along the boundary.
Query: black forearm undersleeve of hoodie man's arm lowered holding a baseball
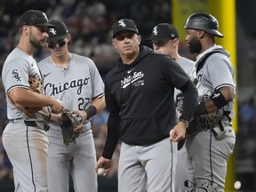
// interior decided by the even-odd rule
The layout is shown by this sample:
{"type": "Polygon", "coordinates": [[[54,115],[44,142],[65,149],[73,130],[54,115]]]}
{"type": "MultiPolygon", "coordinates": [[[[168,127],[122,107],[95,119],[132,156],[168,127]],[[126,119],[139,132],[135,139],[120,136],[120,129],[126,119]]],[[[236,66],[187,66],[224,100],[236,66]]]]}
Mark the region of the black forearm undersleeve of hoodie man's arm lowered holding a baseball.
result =
{"type": "Polygon", "coordinates": [[[108,135],[107,135],[107,140],[102,152],[102,156],[108,159],[111,159],[115,148],[116,144],[119,140],[119,125],[120,125],[121,119],[118,116],[118,114],[109,114],[108,116],[108,135]]]}

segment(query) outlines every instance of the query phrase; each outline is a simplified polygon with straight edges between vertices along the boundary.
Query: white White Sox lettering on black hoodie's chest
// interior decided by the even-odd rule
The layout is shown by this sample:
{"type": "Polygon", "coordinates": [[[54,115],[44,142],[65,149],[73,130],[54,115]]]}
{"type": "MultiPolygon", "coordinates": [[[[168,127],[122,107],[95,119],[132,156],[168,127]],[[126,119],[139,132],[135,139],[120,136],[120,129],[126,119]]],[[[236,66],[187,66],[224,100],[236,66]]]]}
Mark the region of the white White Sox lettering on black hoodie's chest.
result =
{"type": "Polygon", "coordinates": [[[135,86],[144,85],[144,80],[138,81],[143,76],[144,74],[142,71],[133,72],[132,76],[126,76],[124,77],[124,80],[121,80],[121,87],[125,89],[130,84],[134,84],[135,86]]]}

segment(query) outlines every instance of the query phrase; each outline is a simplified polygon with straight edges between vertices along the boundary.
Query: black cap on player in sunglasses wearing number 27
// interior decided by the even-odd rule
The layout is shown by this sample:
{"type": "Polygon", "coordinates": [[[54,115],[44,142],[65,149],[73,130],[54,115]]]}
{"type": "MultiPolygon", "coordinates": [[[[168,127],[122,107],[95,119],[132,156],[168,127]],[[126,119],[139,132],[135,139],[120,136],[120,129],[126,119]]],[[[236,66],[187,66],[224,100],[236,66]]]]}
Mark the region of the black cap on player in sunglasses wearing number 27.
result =
{"type": "Polygon", "coordinates": [[[60,20],[50,20],[49,23],[56,26],[56,28],[49,28],[48,42],[64,39],[69,34],[68,28],[64,22],[60,20]]]}

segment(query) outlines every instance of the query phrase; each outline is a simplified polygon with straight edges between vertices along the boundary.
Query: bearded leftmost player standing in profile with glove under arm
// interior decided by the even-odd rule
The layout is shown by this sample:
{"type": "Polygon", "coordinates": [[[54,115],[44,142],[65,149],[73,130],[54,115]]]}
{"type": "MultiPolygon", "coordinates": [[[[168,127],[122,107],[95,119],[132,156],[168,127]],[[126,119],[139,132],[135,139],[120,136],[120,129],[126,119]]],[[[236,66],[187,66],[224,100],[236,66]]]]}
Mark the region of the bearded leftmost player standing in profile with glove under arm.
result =
{"type": "Polygon", "coordinates": [[[2,78],[7,95],[3,144],[13,166],[15,191],[47,192],[47,124],[64,106],[44,95],[33,53],[44,46],[48,23],[44,12],[29,10],[20,17],[20,41],[4,62],[2,78]],[[34,92],[36,90],[37,92],[34,92]]]}

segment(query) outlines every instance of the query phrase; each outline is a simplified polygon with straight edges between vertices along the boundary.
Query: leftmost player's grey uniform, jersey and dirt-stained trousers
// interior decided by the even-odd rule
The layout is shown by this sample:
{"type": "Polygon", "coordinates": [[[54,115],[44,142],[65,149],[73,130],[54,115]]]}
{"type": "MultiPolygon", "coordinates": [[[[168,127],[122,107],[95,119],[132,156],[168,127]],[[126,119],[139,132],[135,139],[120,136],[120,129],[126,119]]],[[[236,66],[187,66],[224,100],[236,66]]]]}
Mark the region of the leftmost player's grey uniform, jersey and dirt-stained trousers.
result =
{"type": "MultiPolygon", "coordinates": [[[[5,92],[21,87],[29,89],[28,78],[34,77],[43,85],[36,60],[15,48],[6,58],[2,71],[5,92]]],[[[43,86],[42,86],[43,87],[43,86]]],[[[49,140],[43,124],[50,120],[50,109],[44,107],[28,117],[6,97],[7,116],[11,119],[4,128],[3,144],[13,166],[15,191],[48,191],[47,148],[49,140]],[[25,123],[25,121],[30,124],[25,123]],[[32,124],[31,124],[32,123],[32,124]]]]}

